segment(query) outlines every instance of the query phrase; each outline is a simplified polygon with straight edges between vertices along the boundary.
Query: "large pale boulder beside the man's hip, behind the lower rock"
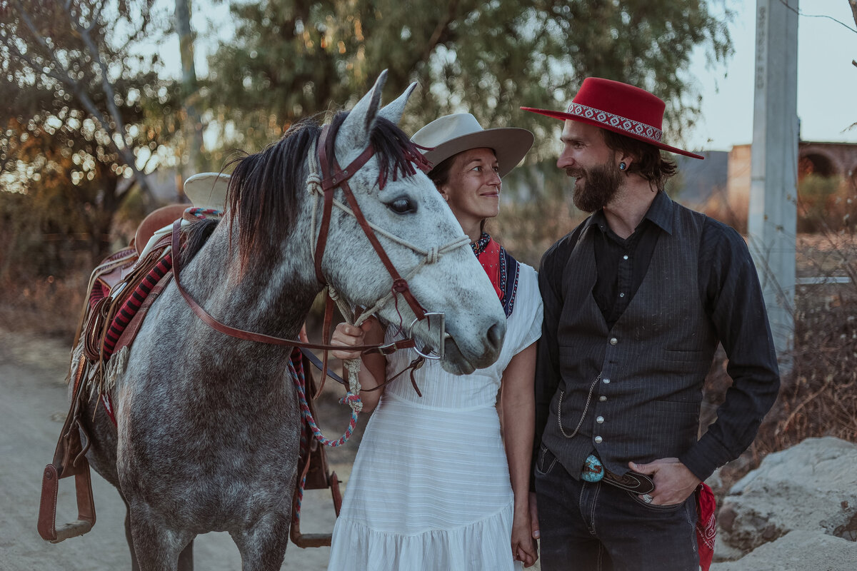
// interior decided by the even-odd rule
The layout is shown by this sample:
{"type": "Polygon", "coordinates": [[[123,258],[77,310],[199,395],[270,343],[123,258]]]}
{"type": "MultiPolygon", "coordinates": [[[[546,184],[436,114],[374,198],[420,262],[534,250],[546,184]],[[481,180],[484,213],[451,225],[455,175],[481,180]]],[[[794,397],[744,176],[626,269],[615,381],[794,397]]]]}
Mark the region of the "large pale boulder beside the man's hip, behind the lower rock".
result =
{"type": "MultiPolygon", "coordinates": [[[[722,548],[716,559],[779,544],[778,538],[794,530],[857,538],[857,445],[834,437],[807,438],[766,456],[723,501],[717,530],[722,548]]],[[[857,568],[854,561],[849,569],[857,568]]]]}

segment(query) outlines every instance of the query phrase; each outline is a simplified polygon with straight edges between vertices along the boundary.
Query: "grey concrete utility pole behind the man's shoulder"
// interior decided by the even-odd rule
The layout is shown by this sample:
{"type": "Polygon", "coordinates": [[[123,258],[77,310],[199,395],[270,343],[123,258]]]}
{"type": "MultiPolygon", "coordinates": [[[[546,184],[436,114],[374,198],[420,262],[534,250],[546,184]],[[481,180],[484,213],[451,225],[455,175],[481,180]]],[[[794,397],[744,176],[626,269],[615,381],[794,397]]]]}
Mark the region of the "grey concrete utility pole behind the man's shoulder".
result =
{"type": "Polygon", "coordinates": [[[780,372],[794,348],[798,172],[798,0],[757,0],[750,251],[764,290],[780,372]]]}

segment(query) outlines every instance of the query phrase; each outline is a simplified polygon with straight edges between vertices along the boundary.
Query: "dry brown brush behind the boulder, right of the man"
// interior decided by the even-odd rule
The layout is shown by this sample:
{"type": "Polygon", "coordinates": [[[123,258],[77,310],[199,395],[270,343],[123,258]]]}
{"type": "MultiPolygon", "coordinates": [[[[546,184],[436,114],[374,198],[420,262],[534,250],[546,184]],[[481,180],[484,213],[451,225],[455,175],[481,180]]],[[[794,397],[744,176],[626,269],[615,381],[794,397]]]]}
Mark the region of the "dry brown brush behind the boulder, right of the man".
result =
{"type": "MultiPolygon", "coordinates": [[[[847,234],[801,235],[797,263],[800,277],[852,281],[797,287],[792,370],[750,449],[722,468],[723,491],[765,455],[806,438],[857,443],[857,241],[847,234]]],[[[706,379],[709,408],[722,402],[730,383],[721,351],[706,379]]]]}

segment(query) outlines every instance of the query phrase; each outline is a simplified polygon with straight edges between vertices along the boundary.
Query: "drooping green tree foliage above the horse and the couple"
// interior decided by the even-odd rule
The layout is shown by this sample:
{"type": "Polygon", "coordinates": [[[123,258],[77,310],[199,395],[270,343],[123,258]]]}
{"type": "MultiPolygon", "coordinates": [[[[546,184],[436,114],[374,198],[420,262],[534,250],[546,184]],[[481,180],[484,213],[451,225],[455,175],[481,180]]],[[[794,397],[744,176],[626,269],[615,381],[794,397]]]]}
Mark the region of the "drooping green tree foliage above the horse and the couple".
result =
{"type": "MultiPolygon", "coordinates": [[[[692,49],[731,51],[699,0],[233,0],[234,41],[210,60],[221,138],[261,146],[301,116],[345,105],[382,68],[388,92],[421,83],[406,128],[470,110],[553,140],[555,122],[520,105],[561,109],[587,75],[625,80],[668,101],[670,132],[692,125],[692,49]],[[215,87],[216,86],[216,87],[215,87]]],[[[725,12],[724,12],[725,13],[725,12]]],[[[728,16],[728,13],[726,13],[728,16]]]]}

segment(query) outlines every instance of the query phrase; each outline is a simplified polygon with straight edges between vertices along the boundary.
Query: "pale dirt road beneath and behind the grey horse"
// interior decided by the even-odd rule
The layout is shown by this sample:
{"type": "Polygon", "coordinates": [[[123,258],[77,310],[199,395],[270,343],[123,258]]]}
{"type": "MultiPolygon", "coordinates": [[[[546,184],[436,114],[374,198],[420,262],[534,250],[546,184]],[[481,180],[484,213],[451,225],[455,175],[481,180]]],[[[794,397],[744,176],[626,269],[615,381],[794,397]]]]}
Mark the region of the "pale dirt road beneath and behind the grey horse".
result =
{"type": "MultiPolygon", "coordinates": [[[[68,359],[68,342],[0,329],[0,571],[130,568],[124,505],[116,489],[96,473],[93,531],[59,544],[45,542],[36,532],[41,473],[53,457],[68,410],[63,383],[68,359]]],[[[346,454],[353,455],[353,450],[346,454]]],[[[340,474],[347,471],[345,466],[335,469],[340,474]]],[[[57,524],[75,519],[73,489],[73,479],[61,481],[57,524]]],[[[303,532],[333,529],[330,497],[317,493],[321,492],[310,491],[304,499],[303,532]]],[[[328,553],[327,547],[302,550],[290,544],[282,568],[325,569],[328,553]]],[[[196,538],[194,556],[198,569],[241,568],[238,550],[226,533],[196,538]]]]}

